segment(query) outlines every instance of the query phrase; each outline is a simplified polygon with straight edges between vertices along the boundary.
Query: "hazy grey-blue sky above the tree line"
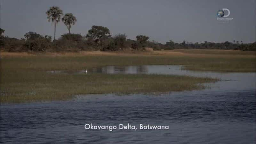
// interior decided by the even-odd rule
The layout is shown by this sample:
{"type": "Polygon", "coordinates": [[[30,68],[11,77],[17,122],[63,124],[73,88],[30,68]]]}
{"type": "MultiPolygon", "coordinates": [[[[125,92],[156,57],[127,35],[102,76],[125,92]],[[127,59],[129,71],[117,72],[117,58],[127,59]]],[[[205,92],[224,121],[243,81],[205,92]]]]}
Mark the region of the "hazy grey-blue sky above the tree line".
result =
{"type": "MultiPolygon", "coordinates": [[[[4,35],[21,38],[33,31],[54,36],[54,24],[45,14],[53,5],[76,16],[71,33],[83,36],[92,25],[101,25],[112,36],[125,33],[136,39],[147,35],[161,43],[255,41],[255,0],[1,0],[4,35]],[[230,10],[228,18],[233,20],[217,20],[222,8],[230,10]]],[[[56,38],[67,32],[60,22],[56,38]]]]}

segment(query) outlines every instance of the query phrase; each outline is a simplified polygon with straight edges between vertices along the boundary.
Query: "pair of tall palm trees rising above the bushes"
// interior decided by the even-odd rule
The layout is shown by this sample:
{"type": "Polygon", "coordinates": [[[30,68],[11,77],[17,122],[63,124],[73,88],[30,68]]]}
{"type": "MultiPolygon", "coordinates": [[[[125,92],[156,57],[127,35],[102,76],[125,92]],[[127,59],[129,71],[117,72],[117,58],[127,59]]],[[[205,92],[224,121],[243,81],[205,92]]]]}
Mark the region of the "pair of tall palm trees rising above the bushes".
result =
{"type": "MultiPolygon", "coordinates": [[[[56,24],[60,22],[61,16],[63,15],[62,10],[58,6],[52,6],[46,11],[48,21],[54,22],[54,40],[56,34],[56,24]]],[[[68,28],[68,34],[70,34],[71,25],[76,23],[76,17],[72,13],[66,13],[61,19],[68,28]]]]}

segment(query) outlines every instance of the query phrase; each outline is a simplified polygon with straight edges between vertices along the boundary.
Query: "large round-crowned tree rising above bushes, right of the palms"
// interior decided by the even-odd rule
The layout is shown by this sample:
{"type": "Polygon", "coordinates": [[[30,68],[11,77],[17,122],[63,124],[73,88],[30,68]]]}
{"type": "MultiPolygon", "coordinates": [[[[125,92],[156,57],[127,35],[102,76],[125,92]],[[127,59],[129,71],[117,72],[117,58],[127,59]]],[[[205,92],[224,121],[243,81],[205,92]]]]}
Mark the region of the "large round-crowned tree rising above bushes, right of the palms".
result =
{"type": "Polygon", "coordinates": [[[88,30],[86,38],[92,39],[95,43],[101,42],[103,38],[108,38],[110,36],[110,31],[107,27],[103,26],[92,26],[92,29],[88,30]]]}

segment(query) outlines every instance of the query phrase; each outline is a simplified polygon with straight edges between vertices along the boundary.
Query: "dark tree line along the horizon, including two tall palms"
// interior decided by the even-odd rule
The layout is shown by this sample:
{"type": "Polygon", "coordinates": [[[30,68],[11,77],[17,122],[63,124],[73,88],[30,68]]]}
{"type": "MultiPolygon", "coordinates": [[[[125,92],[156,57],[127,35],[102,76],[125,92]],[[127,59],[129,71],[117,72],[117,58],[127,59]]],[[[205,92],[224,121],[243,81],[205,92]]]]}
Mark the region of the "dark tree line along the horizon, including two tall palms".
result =
{"type": "Polygon", "coordinates": [[[192,43],[183,41],[175,43],[172,40],[165,44],[156,41],[149,41],[148,36],[138,35],[136,40],[126,39],[125,34],[111,36],[110,30],[103,26],[92,26],[85,36],[70,33],[70,28],[76,23],[76,17],[72,13],[63,15],[62,10],[57,6],[50,7],[46,11],[48,21],[54,23],[54,39],[52,36],[42,36],[36,32],[28,32],[24,38],[16,39],[3,36],[4,29],[0,29],[0,47],[9,52],[35,51],[124,51],[136,50],[145,51],[147,47],[154,50],[173,50],[173,49],[233,49],[243,51],[255,51],[255,42],[244,44],[243,41],[223,42],[223,43],[192,43]],[[56,24],[62,22],[67,26],[68,33],[55,39],[56,24]]]}

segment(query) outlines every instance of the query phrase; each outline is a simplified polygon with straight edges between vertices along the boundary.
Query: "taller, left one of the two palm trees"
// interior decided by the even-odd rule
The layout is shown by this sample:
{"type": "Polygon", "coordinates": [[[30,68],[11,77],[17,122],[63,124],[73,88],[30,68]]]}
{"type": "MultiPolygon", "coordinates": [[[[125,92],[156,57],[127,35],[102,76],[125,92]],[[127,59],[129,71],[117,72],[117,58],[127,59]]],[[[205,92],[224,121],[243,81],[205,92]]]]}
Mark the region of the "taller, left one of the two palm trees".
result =
{"type": "Polygon", "coordinates": [[[60,17],[63,15],[62,10],[58,6],[52,6],[46,12],[48,21],[54,21],[54,40],[56,34],[56,24],[60,21],[60,17]]]}

